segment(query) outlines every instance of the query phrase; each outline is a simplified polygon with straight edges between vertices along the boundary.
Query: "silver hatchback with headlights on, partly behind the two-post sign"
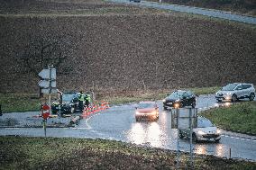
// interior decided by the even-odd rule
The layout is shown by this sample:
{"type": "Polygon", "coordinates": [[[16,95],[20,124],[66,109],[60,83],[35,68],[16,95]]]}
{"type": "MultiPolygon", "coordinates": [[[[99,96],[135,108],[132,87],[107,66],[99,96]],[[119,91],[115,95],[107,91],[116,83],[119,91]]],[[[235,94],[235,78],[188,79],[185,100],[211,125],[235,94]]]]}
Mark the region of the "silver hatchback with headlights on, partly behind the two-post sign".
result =
{"type": "MultiPolygon", "coordinates": [[[[190,137],[190,130],[179,130],[179,138],[183,139],[190,137]]],[[[215,125],[204,117],[197,117],[197,128],[192,131],[192,139],[194,142],[202,140],[210,140],[219,142],[221,139],[220,130],[215,125]]]]}

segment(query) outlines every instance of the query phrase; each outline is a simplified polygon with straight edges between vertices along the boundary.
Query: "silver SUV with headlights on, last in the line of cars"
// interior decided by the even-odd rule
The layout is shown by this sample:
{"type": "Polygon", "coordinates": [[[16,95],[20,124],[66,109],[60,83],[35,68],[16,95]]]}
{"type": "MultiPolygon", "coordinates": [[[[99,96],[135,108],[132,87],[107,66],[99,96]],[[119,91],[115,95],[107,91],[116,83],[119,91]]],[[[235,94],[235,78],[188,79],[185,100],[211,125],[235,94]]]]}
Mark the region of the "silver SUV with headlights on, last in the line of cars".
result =
{"type": "Polygon", "coordinates": [[[232,101],[235,102],[239,99],[249,98],[253,101],[255,97],[255,89],[252,84],[233,83],[225,85],[215,95],[218,102],[232,101]]]}

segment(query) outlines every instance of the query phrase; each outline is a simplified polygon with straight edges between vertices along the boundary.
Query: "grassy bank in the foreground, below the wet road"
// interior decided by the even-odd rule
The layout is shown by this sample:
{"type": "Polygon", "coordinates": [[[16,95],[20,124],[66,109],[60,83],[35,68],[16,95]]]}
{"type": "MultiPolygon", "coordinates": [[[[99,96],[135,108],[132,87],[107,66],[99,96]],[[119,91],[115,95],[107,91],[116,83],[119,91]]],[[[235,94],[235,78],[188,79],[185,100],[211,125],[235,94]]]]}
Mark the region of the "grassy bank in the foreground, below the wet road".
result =
{"type": "MultiPolygon", "coordinates": [[[[105,139],[0,138],[0,169],[175,169],[176,154],[105,139]]],[[[189,155],[181,153],[180,169],[189,155]]],[[[256,163],[195,156],[193,169],[255,169],[256,163]]]]}

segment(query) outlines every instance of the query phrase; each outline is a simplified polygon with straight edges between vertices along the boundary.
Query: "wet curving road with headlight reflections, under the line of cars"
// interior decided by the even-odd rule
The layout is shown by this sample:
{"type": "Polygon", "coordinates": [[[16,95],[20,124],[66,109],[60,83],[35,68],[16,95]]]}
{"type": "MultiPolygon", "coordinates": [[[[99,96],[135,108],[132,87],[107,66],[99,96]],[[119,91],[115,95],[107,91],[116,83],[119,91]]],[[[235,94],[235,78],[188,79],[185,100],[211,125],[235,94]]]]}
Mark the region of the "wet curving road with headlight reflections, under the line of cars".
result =
{"type": "MultiPolygon", "coordinates": [[[[170,127],[171,115],[169,111],[162,111],[160,104],[159,121],[136,122],[134,118],[134,104],[111,107],[104,112],[81,120],[75,128],[49,128],[48,137],[70,137],[91,139],[114,139],[156,148],[177,149],[177,130],[170,127]]],[[[214,95],[200,95],[197,98],[198,111],[216,107],[214,95]]],[[[228,105],[229,103],[221,103],[228,105]]],[[[37,112],[36,112],[37,113],[37,112]]],[[[38,114],[38,113],[37,113],[38,114]]],[[[41,128],[0,128],[0,135],[21,135],[43,137],[41,128]]],[[[220,143],[204,142],[193,144],[197,154],[215,155],[251,159],[256,161],[256,137],[222,131],[220,143]]],[[[180,150],[189,151],[188,139],[180,139],[180,150]]]]}

